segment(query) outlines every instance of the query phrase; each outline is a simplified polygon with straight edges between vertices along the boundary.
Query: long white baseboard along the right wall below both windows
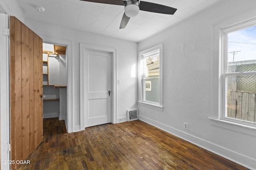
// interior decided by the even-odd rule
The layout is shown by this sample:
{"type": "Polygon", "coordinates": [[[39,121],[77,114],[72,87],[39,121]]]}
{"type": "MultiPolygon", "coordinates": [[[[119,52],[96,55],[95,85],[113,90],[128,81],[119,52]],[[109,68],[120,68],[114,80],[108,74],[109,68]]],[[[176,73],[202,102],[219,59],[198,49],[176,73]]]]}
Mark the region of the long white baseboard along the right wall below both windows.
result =
{"type": "Polygon", "coordinates": [[[181,139],[184,139],[190,143],[193,143],[194,145],[197,145],[198,147],[201,147],[201,148],[206,149],[210,152],[213,152],[219,156],[222,156],[228,160],[231,160],[232,162],[240,164],[240,165],[242,165],[246,168],[249,168],[251,170],[256,170],[255,169],[256,160],[253,158],[249,158],[248,156],[234,152],[233,150],[226,149],[224,147],[215,145],[214,143],[211,143],[209,141],[205,141],[203,139],[200,139],[200,138],[190,135],[188,133],[184,133],[178,129],[174,129],[168,125],[164,125],[158,121],[154,121],[154,120],[144,117],[142,115],[139,116],[139,119],[141,121],[144,121],[144,122],[150,124],[150,125],[158,127],[159,129],[162,129],[163,131],[166,131],[172,135],[175,135],[181,139]]]}

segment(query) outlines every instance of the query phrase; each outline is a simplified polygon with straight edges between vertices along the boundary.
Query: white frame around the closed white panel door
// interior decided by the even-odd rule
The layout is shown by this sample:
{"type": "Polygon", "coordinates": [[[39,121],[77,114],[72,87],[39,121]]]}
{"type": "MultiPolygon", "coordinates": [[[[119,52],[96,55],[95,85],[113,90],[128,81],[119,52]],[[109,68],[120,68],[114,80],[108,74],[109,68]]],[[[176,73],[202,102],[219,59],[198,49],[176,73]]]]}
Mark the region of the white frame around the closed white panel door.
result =
{"type": "Polygon", "coordinates": [[[116,123],[116,49],[112,47],[103,47],[103,46],[97,46],[97,45],[90,45],[90,44],[84,44],[80,43],[80,130],[84,130],[85,124],[84,124],[84,113],[85,113],[85,107],[84,107],[84,96],[86,90],[84,89],[84,85],[86,83],[84,78],[84,51],[85,50],[94,50],[94,51],[102,51],[106,53],[111,53],[111,123],[116,123]]]}

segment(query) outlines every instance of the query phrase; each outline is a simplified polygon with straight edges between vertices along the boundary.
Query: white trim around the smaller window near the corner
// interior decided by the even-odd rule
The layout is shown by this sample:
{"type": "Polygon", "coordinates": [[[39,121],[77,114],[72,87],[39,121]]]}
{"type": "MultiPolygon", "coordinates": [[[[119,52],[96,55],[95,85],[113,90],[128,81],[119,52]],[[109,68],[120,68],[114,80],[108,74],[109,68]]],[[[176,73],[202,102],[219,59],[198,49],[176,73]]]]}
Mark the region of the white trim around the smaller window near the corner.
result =
{"type": "Polygon", "coordinates": [[[153,108],[153,109],[158,109],[158,110],[161,110],[162,111],[162,47],[163,45],[158,45],[156,47],[152,47],[150,49],[147,49],[145,51],[142,51],[139,53],[139,61],[138,61],[138,103],[142,106],[145,106],[145,107],[150,107],[150,108],[153,108]],[[143,78],[142,78],[142,74],[143,74],[143,71],[142,70],[142,58],[143,56],[145,55],[149,55],[150,53],[152,53],[153,51],[156,51],[156,50],[159,50],[159,60],[160,60],[160,68],[159,68],[159,72],[160,72],[160,75],[159,75],[159,104],[156,104],[156,103],[153,103],[153,102],[146,102],[144,101],[143,99],[143,93],[144,93],[144,90],[143,90],[143,78]]]}

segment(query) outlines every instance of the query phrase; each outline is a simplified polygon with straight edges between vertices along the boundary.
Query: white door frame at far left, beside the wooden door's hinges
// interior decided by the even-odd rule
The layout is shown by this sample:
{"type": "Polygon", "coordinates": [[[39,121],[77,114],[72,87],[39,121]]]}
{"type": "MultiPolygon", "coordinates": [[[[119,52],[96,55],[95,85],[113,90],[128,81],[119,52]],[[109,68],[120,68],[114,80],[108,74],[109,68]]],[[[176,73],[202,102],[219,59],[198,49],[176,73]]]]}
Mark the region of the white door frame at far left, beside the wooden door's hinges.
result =
{"type": "MultiPolygon", "coordinates": [[[[0,13],[2,8],[0,6],[0,13]]],[[[2,30],[9,28],[9,16],[0,15],[0,131],[1,131],[1,160],[10,160],[10,152],[7,150],[10,143],[10,58],[9,37],[3,35],[2,30]]],[[[9,170],[10,164],[0,164],[1,169],[9,170]]]]}

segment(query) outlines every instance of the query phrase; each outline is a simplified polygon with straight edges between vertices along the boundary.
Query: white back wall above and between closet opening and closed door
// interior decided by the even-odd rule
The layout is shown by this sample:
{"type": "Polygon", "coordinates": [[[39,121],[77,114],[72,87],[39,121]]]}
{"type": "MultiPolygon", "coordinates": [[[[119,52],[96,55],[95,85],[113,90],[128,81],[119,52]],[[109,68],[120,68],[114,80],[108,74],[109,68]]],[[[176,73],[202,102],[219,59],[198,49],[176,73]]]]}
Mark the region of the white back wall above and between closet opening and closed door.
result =
{"type": "Polygon", "coordinates": [[[25,24],[39,36],[72,41],[73,77],[71,81],[73,94],[69,94],[69,96],[73,96],[72,114],[74,127],[80,125],[80,43],[115,48],[117,51],[117,79],[121,80],[121,84],[116,84],[116,122],[120,122],[121,118],[123,118],[123,121],[126,121],[126,110],[137,106],[137,74],[135,74],[136,77],[131,76],[132,66],[137,63],[137,43],[33,20],[25,20],[25,24]]]}

